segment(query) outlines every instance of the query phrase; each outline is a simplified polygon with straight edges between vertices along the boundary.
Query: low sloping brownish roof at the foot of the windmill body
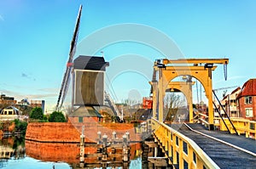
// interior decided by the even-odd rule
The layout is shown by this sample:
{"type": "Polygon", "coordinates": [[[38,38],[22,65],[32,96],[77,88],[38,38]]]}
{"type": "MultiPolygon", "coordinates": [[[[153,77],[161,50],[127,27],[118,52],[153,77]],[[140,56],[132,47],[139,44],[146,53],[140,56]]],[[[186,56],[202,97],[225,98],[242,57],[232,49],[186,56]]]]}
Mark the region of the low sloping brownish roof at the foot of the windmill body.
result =
{"type": "Polygon", "coordinates": [[[78,109],[74,110],[74,112],[69,116],[102,117],[102,115],[92,106],[80,106],[78,109]]]}

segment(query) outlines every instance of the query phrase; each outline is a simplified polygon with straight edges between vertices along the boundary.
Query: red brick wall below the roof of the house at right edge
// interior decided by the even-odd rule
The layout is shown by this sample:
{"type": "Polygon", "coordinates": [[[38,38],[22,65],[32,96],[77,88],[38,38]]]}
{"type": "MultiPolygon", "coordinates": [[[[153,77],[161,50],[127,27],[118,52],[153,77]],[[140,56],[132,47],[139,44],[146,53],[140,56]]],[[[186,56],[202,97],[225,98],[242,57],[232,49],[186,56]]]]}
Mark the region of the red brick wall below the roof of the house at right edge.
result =
{"type": "Polygon", "coordinates": [[[252,104],[245,104],[245,98],[241,97],[239,99],[239,113],[242,118],[256,121],[256,96],[253,96],[252,104]],[[253,108],[253,117],[246,117],[246,108],[253,108]]]}

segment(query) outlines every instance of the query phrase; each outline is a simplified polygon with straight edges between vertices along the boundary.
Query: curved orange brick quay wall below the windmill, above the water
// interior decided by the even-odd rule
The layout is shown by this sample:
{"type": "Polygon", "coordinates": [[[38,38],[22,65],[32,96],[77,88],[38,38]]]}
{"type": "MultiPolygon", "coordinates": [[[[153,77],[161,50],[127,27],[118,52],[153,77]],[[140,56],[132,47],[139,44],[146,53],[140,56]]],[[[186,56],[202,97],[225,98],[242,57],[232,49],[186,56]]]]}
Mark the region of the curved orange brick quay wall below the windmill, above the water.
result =
{"type": "Polygon", "coordinates": [[[42,143],[79,143],[82,127],[84,126],[85,143],[96,143],[97,132],[107,134],[112,138],[116,132],[121,139],[125,132],[130,133],[131,141],[141,141],[141,134],[137,133],[130,123],[72,123],[72,122],[31,122],[26,129],[26,140],[42,143]]]}

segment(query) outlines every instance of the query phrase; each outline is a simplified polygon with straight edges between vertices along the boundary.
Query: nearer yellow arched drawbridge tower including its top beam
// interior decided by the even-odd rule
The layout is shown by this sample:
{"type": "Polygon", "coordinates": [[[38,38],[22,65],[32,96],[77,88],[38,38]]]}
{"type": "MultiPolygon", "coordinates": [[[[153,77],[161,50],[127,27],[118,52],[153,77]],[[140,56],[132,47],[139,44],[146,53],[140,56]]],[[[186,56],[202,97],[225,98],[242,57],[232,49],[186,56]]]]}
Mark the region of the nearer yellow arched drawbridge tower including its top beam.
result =
{"type": "MultiPolygon", "coordinates": [[[[212,70],[217,68],[214,64],[226,65],[229,59],[157,59],[154,62],[154,76],[151,82],[153,87],[153,117],[158,114],[158,120],[163,119],[163,99],[169,82],[177,76],[193,76],[205,88],[208,99],[209,129],[213,129],[212,107],[212,70]]],[[[226,77],[226,74],[225,74],[226,77]]]]}

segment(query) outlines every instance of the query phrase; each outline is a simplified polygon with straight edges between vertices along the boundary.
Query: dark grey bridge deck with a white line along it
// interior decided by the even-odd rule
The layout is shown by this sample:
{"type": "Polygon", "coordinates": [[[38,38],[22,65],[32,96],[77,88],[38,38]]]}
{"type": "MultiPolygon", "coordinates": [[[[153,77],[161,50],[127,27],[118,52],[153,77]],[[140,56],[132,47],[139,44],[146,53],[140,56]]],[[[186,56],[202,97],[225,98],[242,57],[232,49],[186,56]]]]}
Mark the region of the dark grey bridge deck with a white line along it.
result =
{"type": "MultiPolygon", "coordinates": [[[[220,168],[256,168],[256,157],[253,155],[193,132],[183,124],[172,124],[171,127],[198,144],[220,168]]],[[[231,135],[227,132],[208,131],[200,124],[189,124],[189,127],[256,153],[256,142],[253,139],[231,135]]]]}

